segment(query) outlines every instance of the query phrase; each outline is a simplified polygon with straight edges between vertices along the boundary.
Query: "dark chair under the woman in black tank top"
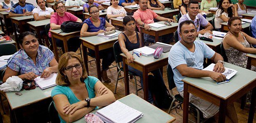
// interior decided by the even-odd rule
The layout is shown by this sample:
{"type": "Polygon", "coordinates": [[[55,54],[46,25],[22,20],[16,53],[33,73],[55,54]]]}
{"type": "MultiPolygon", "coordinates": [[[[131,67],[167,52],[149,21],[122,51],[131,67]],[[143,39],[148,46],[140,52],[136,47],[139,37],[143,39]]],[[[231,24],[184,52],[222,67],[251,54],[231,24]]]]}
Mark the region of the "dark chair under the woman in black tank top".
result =
{"type": "MultiPolygon", "coordinates": [[[[114,91],[114,93],[116,94],[116,88],[117,88],[118,80],[123,79],[123,77],[119,78],[119,75],[120,75],[121,71],[123,71],[123,67],[120,66],[120,62],[122,62],[123,60],[122,60],[122,57],[120,56],[122,51],[121,51],[121,48],[119,46],[119,42],[118,41],[116,41],[114,43],[113,49],[114,49],[114,57],[115,57],[115,60],[116,60],[116,66],[117,66],[117,69],[119,70],[118,74],[117,74],[117,78],[116,78],[116,87],[115,87],[115,91],[114,91]]],[[[128,74],[129,75],[133,75],[133,78],[134,78],[134,81],[135,81],[136,95],[138,95],[138,91],[140,91],[142,88],[137,89],[136,75],[135,75],[135,73],[133,73],[131,71],[128,71],[128,74]]]]}

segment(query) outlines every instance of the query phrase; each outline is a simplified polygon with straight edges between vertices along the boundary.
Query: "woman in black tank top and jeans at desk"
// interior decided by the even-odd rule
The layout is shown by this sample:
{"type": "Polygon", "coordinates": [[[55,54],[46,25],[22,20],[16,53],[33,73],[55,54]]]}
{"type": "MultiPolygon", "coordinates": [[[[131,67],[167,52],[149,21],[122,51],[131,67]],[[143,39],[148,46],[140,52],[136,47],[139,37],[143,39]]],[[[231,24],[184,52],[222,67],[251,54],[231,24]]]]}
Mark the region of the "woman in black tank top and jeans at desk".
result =
{"type": "MultiPolygon", "coordinates": [[[[132,16],[125,16],[123,18],[123,26],[126,29],[126,31],[122,32],[118,36],[118,42],[120,45],[120,48],[127,56],[128,63],[132,63],[135,59],[132,54],[130,54],[129,51],[132,51],[133,49],[137,49],[142,47],[142,41],[140,39],[140,33],[135,31],[136,23],[135,19],[132,16]]],[[[123,63],[122,63],[123,65],[123,63]]],[[[131,66],[128,65],[128,70],[135,73],[135,75],[140,77],[140,84],[143,88],[143,74],[142,71],[139,71],[131,66]]],[[[159,80],[159,82],[163,82],[163,77],[161,75],[160,69],[156,69],[154,71],[151,71],[153,73],[154,77],[159,80]]],[[[149,103],[154,103],[154,100],[151,96],[151,92],[149,91],[149,103]]]]}

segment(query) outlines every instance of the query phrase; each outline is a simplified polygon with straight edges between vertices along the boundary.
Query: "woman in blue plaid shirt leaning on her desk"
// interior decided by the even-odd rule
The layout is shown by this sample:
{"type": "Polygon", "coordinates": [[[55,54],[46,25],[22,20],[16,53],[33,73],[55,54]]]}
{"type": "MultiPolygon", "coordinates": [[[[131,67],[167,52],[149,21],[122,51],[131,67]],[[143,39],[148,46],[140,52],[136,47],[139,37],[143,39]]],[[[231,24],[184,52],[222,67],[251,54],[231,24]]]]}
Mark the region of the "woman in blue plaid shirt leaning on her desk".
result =
{"type": "Polygon", "coordinates": [[[58,72],[58,63],[53,52],[38,43],[32,32],[23,32],[19,36],[21,49],[7,60],[7,68],[3,77],[5,82],[11,76],[22,80],[33,80],[40,76],[47,78],[58,72]]]}

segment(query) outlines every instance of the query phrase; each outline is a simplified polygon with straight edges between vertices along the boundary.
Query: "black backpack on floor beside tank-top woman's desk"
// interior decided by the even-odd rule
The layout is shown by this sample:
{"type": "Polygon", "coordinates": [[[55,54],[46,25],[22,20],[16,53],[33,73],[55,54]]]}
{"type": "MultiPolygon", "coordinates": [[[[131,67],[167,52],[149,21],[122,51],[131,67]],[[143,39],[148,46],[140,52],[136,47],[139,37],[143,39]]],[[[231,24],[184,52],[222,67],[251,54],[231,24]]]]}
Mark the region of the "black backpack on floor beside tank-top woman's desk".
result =
{"type": "Polygon", "coordinates": [[[153,75],[148,76],[149,91],[151,92],[152,98],[156,107],[161,109],[168,109],[171,105],[173,98],[165,86],[164,82],[159,82],[153,75]]]}

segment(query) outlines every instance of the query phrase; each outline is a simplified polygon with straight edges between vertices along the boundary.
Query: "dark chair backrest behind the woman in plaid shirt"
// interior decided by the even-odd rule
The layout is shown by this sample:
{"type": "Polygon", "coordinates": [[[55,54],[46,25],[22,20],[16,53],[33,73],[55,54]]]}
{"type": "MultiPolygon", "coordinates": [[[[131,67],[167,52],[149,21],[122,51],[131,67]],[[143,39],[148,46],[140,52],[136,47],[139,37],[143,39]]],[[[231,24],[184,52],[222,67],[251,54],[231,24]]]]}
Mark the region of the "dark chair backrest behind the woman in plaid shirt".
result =
{"type": "Polygon", "coordinates": [[[12,43],[2,43],[0,44],[0,49],[1,49],[0,56],[12,55],[15,52],[17,52],[16,46],[12,43]]]}

